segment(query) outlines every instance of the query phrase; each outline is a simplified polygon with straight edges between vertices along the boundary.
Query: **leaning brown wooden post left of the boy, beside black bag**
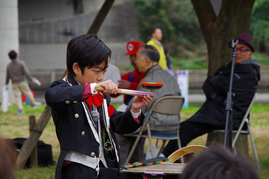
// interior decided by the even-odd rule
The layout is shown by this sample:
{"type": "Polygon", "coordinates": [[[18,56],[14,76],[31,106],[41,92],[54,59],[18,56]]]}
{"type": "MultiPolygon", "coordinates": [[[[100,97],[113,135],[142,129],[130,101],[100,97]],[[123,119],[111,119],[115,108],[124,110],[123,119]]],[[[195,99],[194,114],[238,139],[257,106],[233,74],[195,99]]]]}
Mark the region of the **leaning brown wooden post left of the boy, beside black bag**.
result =
{"type": "Polygon", "coordinates": [[[36,125],[32,129],[30,137],[22,145],[21,151],[19,152],[16,161],[17,168],[23,168],[25,166],[27,159],[30,157],[40,135],[42,134],[45,126],[48,124],[50,118],[51,118],[51,108],[46,106],[36,125]]]}

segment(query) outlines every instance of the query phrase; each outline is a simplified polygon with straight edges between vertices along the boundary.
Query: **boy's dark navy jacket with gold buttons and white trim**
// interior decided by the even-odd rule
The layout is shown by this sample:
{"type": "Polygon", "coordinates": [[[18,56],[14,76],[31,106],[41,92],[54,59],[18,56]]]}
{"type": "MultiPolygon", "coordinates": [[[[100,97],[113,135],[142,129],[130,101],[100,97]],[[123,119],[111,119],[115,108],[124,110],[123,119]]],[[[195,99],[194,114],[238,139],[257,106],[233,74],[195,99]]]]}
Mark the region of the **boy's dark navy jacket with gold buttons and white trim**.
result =
{"type": "MultiPolygon", "coordinates": [[[[85,85],[79,85],[78,82],[68,76],[70,86],[64,80],[54,81],[50,89],[45,94],[45,100],[49,107],[56,128],[56,135],[60,143],[61,153],[56,167],[56,179],[61,179],[62,163],[67,150],[76,151],[92,157],[92,153],[98,155],[99,143],[96,141],[94,134],[88,123],[82,102],[82,91],[85,85]],[[76,116],[75,116],[76,115],[76,116]]],[[[110,96],[103,94],[106,99],[107,107],[110,106],[110,96]]],[[[87,102],[86,106],[89,108],[87,102]]],[[[100,124],[106,130],[102,106],[97,108],[100,114],[100,124]]],[[[120,168],[120,150],[117,144],[114,132],[118,134],[129,134],[135,132],[143,125],[145,116],[141,113],[140,124],[138,124],[130,111],[117,112],[114,109],[113,115],[110,116],[109,132],[114,140],[117,155],[119,156],[118,168],[120,168]]],[[[117,162],[117,160],[115,160],[117,162]]]]}

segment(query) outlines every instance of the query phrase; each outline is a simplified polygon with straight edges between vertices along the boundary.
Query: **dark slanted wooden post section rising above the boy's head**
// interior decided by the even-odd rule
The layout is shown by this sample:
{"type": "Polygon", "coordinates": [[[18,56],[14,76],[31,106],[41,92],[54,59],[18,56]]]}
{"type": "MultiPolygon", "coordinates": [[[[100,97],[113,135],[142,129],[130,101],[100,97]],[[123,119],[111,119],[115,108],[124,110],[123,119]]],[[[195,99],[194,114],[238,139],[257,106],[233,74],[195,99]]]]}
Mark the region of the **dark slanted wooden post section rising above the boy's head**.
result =
{"type": "Polygon", "coordinates": [[[103,24],[103,21],[105,20],[106,15],[108,14],[113,3],[114,3],[114,0],[106,0],[104,2],[103,6],[101,7],[98,14],[96,15],[93,23],[91,24],[91,27],[88,30],[87,34],[97,34],[98,30],[103,24]]]}

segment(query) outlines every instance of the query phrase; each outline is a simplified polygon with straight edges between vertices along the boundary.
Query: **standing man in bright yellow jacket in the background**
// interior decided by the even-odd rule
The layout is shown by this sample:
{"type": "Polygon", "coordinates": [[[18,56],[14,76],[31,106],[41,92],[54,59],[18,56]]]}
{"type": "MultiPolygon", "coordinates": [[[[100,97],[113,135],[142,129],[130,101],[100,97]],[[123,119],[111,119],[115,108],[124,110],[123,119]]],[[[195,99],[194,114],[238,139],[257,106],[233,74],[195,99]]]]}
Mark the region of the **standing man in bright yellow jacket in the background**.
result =
{"type": "Polygon", "coordinates": [[[152,29],[151,36],[152,38],[147,42],[147,45],[152,45],[158,49],[160,53],[159,65],[163,70],[166,70],[166,56],[163,50],[163,44],[161,43],[161,40],[163,38],[162,30],[159,28],[152,29]]]}

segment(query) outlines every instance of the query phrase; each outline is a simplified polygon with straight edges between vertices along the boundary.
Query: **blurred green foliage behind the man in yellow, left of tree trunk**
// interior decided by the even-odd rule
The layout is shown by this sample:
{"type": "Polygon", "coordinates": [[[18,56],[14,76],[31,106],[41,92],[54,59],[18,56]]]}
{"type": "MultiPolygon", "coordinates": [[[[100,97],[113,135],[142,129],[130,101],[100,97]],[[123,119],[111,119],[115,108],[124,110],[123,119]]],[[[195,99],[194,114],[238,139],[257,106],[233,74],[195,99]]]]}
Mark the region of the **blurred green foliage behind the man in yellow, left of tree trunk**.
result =
{"type": "Polygon", "coordinates": [[[203,39],[191,1],[134,0],[133,5],[141,41],[149,41],[151,29],[158,27],[163,32],[163,44],[177,55],[180,48],[193,50],[203,39]]]}

